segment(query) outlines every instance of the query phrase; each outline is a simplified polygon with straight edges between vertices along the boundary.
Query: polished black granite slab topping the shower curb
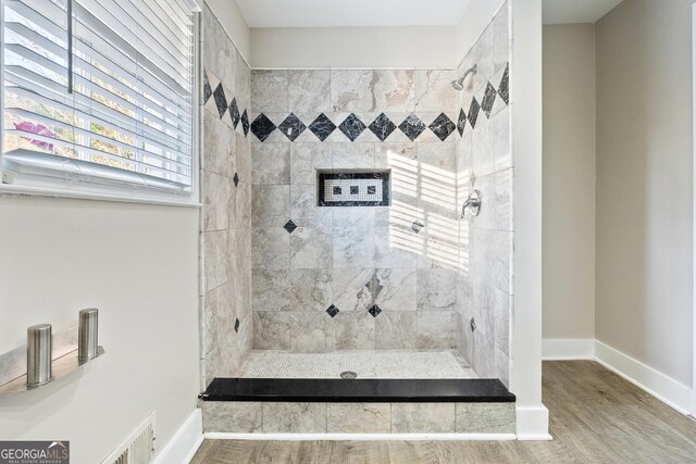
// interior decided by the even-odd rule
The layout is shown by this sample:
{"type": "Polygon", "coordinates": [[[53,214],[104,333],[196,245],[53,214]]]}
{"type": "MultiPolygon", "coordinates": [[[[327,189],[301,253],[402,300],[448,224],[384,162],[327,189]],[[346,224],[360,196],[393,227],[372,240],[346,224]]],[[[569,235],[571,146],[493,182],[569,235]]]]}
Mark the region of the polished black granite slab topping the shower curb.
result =
{"type": "Polygon", "coordinates": [[[498,379],[215,378],[202,401],[512,403],[498,379]]]}

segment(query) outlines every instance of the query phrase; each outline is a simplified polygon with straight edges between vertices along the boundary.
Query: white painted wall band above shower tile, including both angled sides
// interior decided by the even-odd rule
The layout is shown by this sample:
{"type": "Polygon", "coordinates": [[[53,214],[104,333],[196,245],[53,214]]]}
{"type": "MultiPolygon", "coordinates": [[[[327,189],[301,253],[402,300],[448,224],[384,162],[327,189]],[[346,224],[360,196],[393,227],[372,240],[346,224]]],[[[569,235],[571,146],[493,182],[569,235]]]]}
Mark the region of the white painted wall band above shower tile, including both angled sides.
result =
{"type": "Polygon", "coordinates": [[[457,26],[249,28],[235,1],[206,0],[252,68],[453,68],[504,2],[470,1],[457,26]]]}

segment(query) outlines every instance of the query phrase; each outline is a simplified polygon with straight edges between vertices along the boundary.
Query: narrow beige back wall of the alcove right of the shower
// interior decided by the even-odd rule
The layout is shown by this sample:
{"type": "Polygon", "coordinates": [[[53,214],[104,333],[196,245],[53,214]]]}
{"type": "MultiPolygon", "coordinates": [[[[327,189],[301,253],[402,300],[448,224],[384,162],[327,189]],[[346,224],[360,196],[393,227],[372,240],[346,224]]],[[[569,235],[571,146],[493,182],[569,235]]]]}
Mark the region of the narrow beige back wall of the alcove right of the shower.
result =
{"type": "Polygon", "coordinates": [[[595,26],[544,26],[544,338],[595,338],[595,26]]]}

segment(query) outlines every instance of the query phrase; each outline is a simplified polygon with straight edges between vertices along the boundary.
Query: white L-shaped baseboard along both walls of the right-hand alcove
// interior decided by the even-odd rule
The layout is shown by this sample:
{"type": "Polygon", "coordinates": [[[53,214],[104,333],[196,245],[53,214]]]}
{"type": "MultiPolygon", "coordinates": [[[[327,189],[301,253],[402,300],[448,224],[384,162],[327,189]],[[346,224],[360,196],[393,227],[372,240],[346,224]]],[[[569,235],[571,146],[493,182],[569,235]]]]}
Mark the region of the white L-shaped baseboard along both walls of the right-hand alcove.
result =
{"type": "Polygon", "coordinates": [[[545,361],[592,360],[645,390],[682,414],[692,413],[692,389],[652,367],[595,339],[546,339],[545,361]]]}

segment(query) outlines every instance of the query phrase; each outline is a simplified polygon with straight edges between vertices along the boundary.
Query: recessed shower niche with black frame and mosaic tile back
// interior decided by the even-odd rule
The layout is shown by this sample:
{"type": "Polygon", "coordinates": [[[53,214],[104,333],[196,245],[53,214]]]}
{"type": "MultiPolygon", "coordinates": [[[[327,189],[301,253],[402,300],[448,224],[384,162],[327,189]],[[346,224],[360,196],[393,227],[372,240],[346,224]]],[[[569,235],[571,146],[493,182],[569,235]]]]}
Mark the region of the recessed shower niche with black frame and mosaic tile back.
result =
{"type": "Polygon", "coordinates": [[[319,171],[319,206],[388,206],[389,171],[319,171]]]}

